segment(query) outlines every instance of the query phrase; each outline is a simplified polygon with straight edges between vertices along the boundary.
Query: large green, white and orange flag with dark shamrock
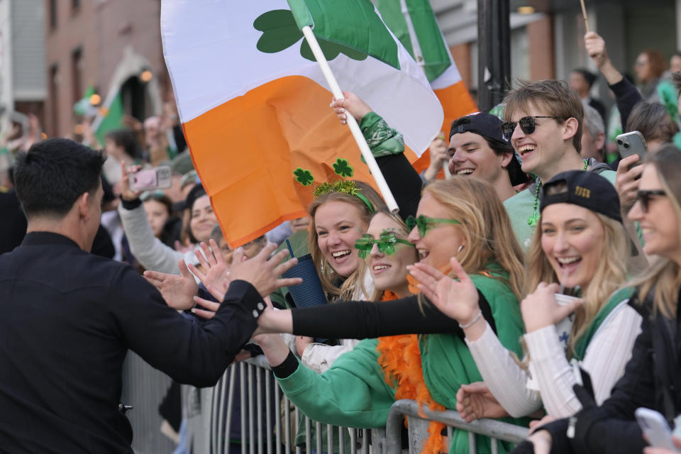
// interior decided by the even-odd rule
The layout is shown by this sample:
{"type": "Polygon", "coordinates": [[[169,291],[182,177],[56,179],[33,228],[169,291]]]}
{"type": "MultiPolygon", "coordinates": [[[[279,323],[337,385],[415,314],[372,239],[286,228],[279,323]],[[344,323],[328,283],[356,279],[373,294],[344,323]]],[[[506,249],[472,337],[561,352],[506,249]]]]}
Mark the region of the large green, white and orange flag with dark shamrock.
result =
{"type": "Polygon", "coordinates": [[[314,34],[341,88],[404,136],[416,160],[442,107],[369,0],[162,0],[161,35],[180,120],[230,245],[305,216],[331,179],[372,183],[303,39],[314,34]],[[289,5],[290,3],[290,5],[289,5]]]}

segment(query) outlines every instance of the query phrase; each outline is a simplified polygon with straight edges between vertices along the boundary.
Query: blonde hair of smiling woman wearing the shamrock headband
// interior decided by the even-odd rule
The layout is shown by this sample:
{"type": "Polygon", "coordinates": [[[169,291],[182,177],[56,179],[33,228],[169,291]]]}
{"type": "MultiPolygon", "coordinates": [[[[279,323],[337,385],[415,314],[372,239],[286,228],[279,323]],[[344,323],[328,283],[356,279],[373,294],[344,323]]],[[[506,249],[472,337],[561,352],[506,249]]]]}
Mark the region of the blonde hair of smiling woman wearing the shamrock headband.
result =
{"type": "MultiPolygon", "coordinates": [[[[360,189],[362,196],[370,201],[373,211],[377,211],[378,209],[381,209],[383,206],[385,206],[381,196],[368,184],[355,181],[355,187],[360,189]]],[[[362,276],[359,270],[360,267],[353,271],[350,276],[345,278],[343,284],[341,284],[341,287],[336,287],[336,285],[333,284],[333,281],[341,276],[338,275],[336,270],[333,270],[333,267],[328,260],[326,260],[323,253],[321,253],[321,250],[319,249],[314,214],[316,213],[317,209],[319,209],[319,207],[325,204],[327,201],[342,201],[346,204],[355,206],[355,208],[360,211],[360,221],[362,221],[362,224],[364,224],[362,227],[363,230],[366,230],[367,226],[369,225],[372,211],[370,211],[369,206],[367,206],[367,204],[365,204],[365,202],[362,201],[362,199],[360,199],[358,196],[345,194],[345,192],[327,192],[326,194],[321,194],[312,201],[308,208],[308,212],[310,214],[310,234],[308,236],[308,247],[312,255],[312,260],[316,265],[317,274],[319,274],[319,279],[321,280],[321,286],[327,294],[341,297],[341,299],[352,299],[354,289],[360,281],[360,276],[362,276]]]]}

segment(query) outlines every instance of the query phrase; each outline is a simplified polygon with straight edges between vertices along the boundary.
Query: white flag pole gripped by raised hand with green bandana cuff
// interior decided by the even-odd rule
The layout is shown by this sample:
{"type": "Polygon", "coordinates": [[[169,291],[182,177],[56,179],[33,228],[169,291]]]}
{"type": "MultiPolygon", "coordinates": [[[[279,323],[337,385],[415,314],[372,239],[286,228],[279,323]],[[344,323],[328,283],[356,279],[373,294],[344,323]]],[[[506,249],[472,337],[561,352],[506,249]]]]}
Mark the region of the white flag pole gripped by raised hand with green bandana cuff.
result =
{"type": "MultiPolygon", "coordinates": [[[[333,93],[333,97],[336,99],[343,99],[343,92],[341,91],[341,87],[338,86],[336,77],[333,76],[333,72],[331,72],[331,67],[328,66],[326,57],[324,57],[324,54],[321,51],[321,48],[319,47],[319,43],[317,43],[317,38],[315,38],[314,33],[312,33],[312,29],[309,26],[304,26],[302,31],[303,35],[305,35],[307,43],[310,45],[310,49],[312,50],[312,53],[314,54],[314,57],[317,60],[317,63],[319,63],[319,67],[321,69],[322,74],[324,74],[326,83],[328,84],[329,87],[331,87],[331,93],[333,93]]],[[[385,200],[385,204],[387,204],[388,209],[392,213],[397,213],[397,211],[399,211],[399,208],[397,207],[397,201],[395,201],[394,196],[392,196],[392,192],[390,192],[390,188],[388,187],[388,184],[385,182],[383,173],[378,167],[374,155],[371,154],[369,145],[367,145],[367,140],[365,140],[364,135],[362,135],[362,131],[360,130],[360,126],[357,124],[357,120],[355,120],[355,117],[353,117],[350,114],[348,114],[347,117],[348,118],[346,121],[348,123],[348,126],[350,126],[350,131],[353,133],[355,142],[357,142],[357,145],[360,148],[360,151],[362,152],[362,157],[364,157],[364,160],[367,162],[367,165],[369,166],[371,175],[372,177],[374,177],[376,184],[378,185],[378,189],[381,192],[383,199],[385,200]]]]}

